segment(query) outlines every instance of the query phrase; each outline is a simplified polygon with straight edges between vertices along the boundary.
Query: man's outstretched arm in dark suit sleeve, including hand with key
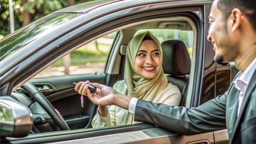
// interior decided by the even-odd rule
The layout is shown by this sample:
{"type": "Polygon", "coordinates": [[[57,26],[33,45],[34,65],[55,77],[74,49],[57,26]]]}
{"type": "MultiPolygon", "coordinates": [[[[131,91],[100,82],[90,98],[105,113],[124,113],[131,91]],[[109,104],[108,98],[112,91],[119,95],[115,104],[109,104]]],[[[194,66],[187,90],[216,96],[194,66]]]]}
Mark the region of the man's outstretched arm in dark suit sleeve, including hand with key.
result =
{"type": "MultiPolygon", "coordinates": [[[[84,86],[82,88],[78,83],[75,89],[79,91],[79,94],[87,95],[96,105],[108,106],[114,104],[123,109],[129,109],[132,97],[120,94],[109,86],[100,85],[99,83],[90,84],[97,87],[96,93],[91,94],[90,90],[87,89],[87,84],[82,85],[82,87],[84,86]]],[[[135,121],[156,124],[180,134],[221,130],[226,128],[226,101],[227,92],[197,108],[190,109],[138,100],[135,109],[135,121]]]]}

